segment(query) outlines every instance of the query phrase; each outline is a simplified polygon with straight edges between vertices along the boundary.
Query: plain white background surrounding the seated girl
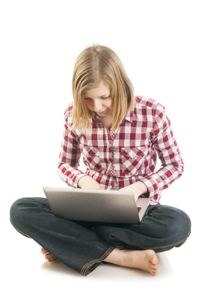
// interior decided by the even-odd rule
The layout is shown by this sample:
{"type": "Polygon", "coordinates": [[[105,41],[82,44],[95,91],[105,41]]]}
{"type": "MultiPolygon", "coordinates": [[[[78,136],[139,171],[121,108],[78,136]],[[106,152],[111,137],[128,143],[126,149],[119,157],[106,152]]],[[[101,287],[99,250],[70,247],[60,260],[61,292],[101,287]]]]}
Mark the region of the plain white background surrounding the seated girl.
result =
{"type": "MultiPolygon", "coordinates": [[[[0,1],[1,274],[4,299],[168,298],[195,288],[198,259],[198,1],[0,1]],[[115,264],[83,277],[48,262],[9,222],[18,198],[66,187],[57,173],[64,110],[78,54],[93,42],[120,57],[135,95],[166,107],[184,160],[161,204],[184,210],[191,234],[158,253],[158,274],[115,264]],[[196,273],[195,273],[196,271],[196,273]],[[91,281],[91,282],[90,282],[91,281]],[[170,287],[173,287],[172,292],[170,287]]],[[[80,159],[80,169],[85,166],[80,159]]],[[[160,167],[157,162],[155,171],[160,167]]]]}

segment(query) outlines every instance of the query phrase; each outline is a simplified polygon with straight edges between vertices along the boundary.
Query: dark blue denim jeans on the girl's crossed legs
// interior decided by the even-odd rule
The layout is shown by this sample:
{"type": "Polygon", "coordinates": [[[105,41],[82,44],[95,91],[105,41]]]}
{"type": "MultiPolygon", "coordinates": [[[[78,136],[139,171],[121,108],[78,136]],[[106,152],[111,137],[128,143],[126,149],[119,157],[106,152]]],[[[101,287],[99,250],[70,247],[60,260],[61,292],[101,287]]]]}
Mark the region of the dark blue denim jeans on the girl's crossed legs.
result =
{"type": "Polygon", "coordinates": [[[82,276],[107,263],[103,260],[114,248],[163,252],[180,247],[191,232],[183,210],[161,204],[149,204],[140,224],[68,220],[55,216],[41,197],[15,200],[9,215],[19,233],[82,276]]]}

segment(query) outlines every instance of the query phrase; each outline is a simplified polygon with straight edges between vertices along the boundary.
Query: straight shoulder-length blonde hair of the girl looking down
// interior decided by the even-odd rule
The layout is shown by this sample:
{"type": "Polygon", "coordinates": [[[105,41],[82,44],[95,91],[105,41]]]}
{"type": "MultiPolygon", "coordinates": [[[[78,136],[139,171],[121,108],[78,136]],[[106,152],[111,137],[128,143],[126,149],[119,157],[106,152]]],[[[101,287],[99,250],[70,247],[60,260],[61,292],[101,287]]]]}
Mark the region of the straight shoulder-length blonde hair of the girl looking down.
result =
{"type": "MultiPolygon", "coordinates": [[[[90,110],[85,105],[84,90],[97,88],[103,82],[110,89],[113,100],[112,132],[119,126],[127,111],[134,104],[134,88],[117,54],[107,46],[91,44],[78,55],[73,75],[74,99],[71,129],[80,128],[85,133],[92,129],[90,110]]],[[[91,133],[91,131],[90,131],[91,133]]]]}

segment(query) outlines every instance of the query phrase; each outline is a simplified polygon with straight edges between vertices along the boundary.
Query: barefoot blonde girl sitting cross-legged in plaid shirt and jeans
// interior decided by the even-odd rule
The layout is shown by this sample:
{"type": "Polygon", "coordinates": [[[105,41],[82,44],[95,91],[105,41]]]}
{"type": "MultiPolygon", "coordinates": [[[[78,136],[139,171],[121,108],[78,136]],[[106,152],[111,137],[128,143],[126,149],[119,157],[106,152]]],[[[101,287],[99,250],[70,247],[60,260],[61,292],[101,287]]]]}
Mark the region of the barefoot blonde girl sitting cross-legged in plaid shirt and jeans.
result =
{"type": "Polygon", "coordinates": [[[180,247],[191,232],[184,211],[159,202],[161,191],[183,173],[165,107],[135,95],[117,54],[99,44],[78,55],[72,93],[64,111],[60,178],[74,188],[148,197],[145,216],[140,224],[71,221],[53,215],[46,198],[23,197],[11,205],[10,222],[41,245],[48,261],[57,259],[82,276],[107,262],[156,275],[156,253],[180,247]],[[78,168],[81,154],[85,173],[78,168]],[[154,171],[157,155],[161,167],[154,171]]]}

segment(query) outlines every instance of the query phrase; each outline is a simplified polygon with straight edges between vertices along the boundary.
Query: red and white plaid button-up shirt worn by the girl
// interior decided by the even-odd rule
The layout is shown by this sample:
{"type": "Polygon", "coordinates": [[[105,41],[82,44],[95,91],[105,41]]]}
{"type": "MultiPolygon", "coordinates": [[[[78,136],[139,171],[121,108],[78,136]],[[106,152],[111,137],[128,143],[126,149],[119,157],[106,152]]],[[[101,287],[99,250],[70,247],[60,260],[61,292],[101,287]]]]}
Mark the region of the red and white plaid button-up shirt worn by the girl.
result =
{"type": "Polygon", "coordinates": [[[139,180],[147,187],[140,197],[159,205],[161,191],[183,172],[183,160],[165,114],[165,107],[145,96],[136,96],[133,109],[110,135],[92,111],[92,133],[71,130],[73,103],[64,111],[64,130],[57,172],[69,186],[77,188],[85,175],[93,177],[104,189],[118,190],[139,180]],[[86,172],[78,169],[80,155],[86,172]],[[154,172],[157,155],[161,168],[154,172]]]}

